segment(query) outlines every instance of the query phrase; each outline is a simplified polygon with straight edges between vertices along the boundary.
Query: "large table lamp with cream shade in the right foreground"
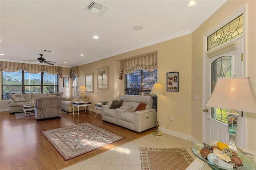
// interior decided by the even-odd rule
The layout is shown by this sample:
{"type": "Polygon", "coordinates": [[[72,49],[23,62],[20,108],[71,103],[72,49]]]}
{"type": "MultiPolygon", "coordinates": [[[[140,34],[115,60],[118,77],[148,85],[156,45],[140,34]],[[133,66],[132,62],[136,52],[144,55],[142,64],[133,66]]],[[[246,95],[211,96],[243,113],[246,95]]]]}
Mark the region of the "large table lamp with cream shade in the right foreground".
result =
{"type": "Polygon", "coordinates": [[[242,78],[218,78],[214,90],[205,104],[206,107],[229,109],[228,118],[228,147],[242,152],[236,146],[236,128],[238,112],[256,113],[255,94],[250,84],[249,77],[242,78]]]}

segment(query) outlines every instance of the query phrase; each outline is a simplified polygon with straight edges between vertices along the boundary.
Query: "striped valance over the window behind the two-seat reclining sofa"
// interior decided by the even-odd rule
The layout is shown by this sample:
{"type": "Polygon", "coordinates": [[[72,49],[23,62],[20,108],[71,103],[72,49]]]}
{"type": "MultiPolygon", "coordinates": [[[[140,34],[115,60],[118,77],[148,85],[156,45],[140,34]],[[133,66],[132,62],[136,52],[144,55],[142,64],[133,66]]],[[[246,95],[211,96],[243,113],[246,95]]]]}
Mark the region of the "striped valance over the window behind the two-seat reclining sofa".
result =
{"type": "Polygon", "coordinates": [[[153,71],[157,69],[157,54],[151,54],[140,58],[134,58],[121,62],[119,79],[123,79],[123,73],[130,74],[137,68],[145,71],[153,71]]]}

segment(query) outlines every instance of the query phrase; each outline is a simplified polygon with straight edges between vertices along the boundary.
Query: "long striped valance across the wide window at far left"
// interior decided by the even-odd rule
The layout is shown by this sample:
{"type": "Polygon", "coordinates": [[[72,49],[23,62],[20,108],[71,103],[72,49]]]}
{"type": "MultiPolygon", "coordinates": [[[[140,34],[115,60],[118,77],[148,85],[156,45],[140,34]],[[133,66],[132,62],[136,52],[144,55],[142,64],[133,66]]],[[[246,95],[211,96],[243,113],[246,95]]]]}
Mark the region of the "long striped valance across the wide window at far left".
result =
{"type": "Polygon", "coordinates": [[[6,72],[18,72],[20,70],[24,70],[31,74],[37,74],[45,71],[48,74],[59,74],[60,77],[62,77],[61,75],[62,69],[59,66],[46,66],[46,65],[1,61],[0,70],[6,71],[6,72]]]}

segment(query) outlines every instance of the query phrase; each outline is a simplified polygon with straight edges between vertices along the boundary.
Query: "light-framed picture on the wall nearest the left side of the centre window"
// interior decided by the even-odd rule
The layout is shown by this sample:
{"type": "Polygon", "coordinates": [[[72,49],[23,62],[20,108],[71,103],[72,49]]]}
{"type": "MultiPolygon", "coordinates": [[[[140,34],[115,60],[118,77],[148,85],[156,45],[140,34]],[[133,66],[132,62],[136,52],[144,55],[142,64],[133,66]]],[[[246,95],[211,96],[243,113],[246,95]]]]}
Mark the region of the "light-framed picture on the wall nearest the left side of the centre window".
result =
{"type": "Polygon", "coordinates": [[[108,66],[97,68],[97,89],[108,90],[108,66]]]}

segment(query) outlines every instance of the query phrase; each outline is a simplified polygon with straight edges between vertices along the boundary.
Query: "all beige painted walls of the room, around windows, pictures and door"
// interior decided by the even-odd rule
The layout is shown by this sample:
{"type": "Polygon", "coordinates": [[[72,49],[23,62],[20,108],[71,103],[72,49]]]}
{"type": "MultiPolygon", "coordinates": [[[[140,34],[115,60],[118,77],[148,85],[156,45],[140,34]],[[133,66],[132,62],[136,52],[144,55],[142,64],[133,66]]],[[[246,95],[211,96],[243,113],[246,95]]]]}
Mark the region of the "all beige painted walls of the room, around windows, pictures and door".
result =
{"type": "MultiPolygon", "coordinates": [[[[233,15],[241,8],[246,12],[246,40],[244,58],[246,61],[245,76],[250,77],[254,90],[256,82],[256,2],[255,0],[228,0],[203,24],[201,24],[191,34],[182,35],[171,40],[158,44],[118,54],[110,58],[105,58],[88,64],[80,65],[78,86],[84,85],[85,74],[97,72],[97,68],[108,66],[108,90],[97,90],[97,80],[94,78],[94,93],[86,93],[92,104],[101,100],[112,101],[118,99],[124,94],[124,80],[119,80],[120,61],[127,58],[136,58],[145,54],[157,52],[158,55],[158,82],[166,86],[166,73],[179,72],[179,92],[166,92],[165,96],[159,96],[158,112],[160,128],[164,129],[169,124],[170,118],[174,118],[171,126],[164,132],[177,136],[193,143],[204,142],[204,109],[203,101],[203,44],[204,35],[222,22],[226,21],[230,15],[233,15]],[[185,50],[184,50],[185,49],[185,50]],[[198,100],[193,99],[193,95],[198,95],[198,100]]],[[[94,74],[95,76],[96,74],[94,74]]],[[[70,68],[62,68],[62,77],[70,76],[70,68]]],[[[2,83],[2,80],[0,80],[2,83]]],[[[1,84],[2,85],[2,84],[1,84]]],[[[62,78],[59,77],[59,91],[64,92],[64,97],[72,96],[72,82],[70,87],[64,88],[62,78]]],[[[1,111],[8,110],[8,104],[5,100],[0,101],[1,111]]],[[[256,151],[256,115],[253,113],[244,113],[246,119],[245,143],[244,147],[248,150],[256,151]]]]}

